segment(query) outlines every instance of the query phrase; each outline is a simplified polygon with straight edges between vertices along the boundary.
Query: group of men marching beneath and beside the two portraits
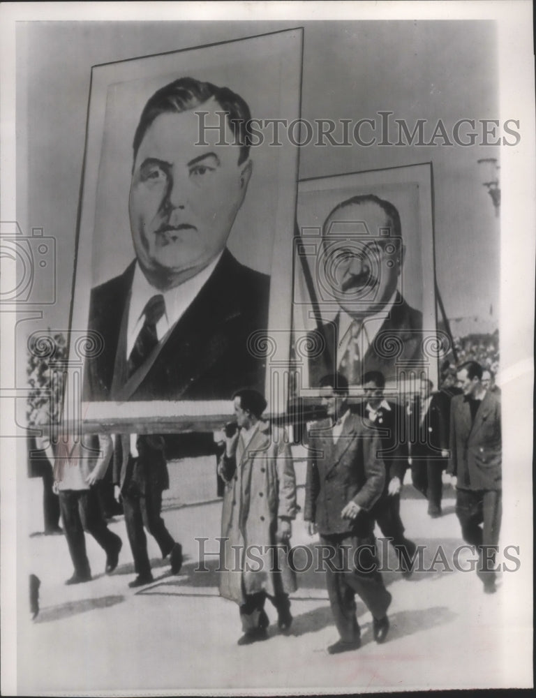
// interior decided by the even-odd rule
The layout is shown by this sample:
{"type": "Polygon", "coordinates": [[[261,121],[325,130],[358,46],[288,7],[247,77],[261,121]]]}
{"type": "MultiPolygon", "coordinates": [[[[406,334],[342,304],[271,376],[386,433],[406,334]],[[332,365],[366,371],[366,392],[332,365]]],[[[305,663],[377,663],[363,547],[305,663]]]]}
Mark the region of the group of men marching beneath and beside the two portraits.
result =
{"type": "MultiPolygon", "coordinates": [[[[316,545],[326,563],[322,571],[340,634],[329,653],[359,648],[356,594],[371,611],[375,640],[387,638],[392,596],[378,569],[374,528],[378,523],[396,551],[399,571],[411,577],[417,547],[405,537],[400,508],[408,468],[434,518],[442,515],[442,473],[447,470],[456,487],[461,535],[479,551],[477,574],[484,592],[496,591],[500,396],[484,385],[483,377],[480,364],[464,362],[456,369],[454,385],[449,370],[435,391],[423,376],[419,392],[401,404],[386,399],[380,371],[362,377],[359,404],[349,401],[348,380],[342,373],[320,380],[326,416],[308,429],[304,521],[311,535],[320,536],[316,545]]],[[[233,401],[235,421],[225,427],[218,460],[218,475],[225,482],[219,581],[221,595],[239,606],[244,630],[239,644],[244,645],[268,637],[267,598],[277,609],[279,628],[285,631],[292,625],[289,594],[297,588],[297,575],[288,551],[299,507],[288,439],[281,427],[263,418],[264,396],[242,389],[233,401]],[[250,558],[252,548],[257,554],[250,558]]],[[[91,580],[84,531],[105,551],[105,572],[111,574],[117,567],[123,541],[107,527],[97,494],[98,483],[110,469],[114,494],[124,506],[135,565],[136,577],[129,586],[153,581],[145,530],[155,537],[163,558],[169,556],[172,573],[180,572],[181,544],[161,517],[162,493],[169,487],[161,436],[87,435],[57,445],[44,443],[43,453],[52,463],[53,488],[73,561],[66,584],[91,580]]],[[[38,582],[31,579],[34,603],[36,588],[38,582]]]]}

